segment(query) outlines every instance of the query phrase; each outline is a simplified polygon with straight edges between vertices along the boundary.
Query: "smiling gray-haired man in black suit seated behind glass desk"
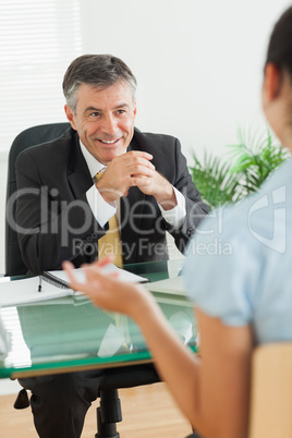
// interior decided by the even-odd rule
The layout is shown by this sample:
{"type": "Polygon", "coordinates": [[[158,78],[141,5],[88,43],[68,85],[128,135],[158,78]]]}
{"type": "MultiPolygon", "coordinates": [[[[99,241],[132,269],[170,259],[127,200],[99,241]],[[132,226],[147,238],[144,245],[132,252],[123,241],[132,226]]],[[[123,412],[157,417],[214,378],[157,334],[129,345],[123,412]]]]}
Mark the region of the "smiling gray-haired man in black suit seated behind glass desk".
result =
{"type": "MultiPolygon", "coordinates": [[[[208,212],[180,142],[134,127],[136,80],[110,54],[69,66],[63,92],[71,127],[16,161],[16,222],[27,269],[78,267],[113,253],[115,263],[166,260],[166,233],[183,251],[208,212]]],[[[42,438],[80,437],[102,372],[22,380],[42,438]]]]}

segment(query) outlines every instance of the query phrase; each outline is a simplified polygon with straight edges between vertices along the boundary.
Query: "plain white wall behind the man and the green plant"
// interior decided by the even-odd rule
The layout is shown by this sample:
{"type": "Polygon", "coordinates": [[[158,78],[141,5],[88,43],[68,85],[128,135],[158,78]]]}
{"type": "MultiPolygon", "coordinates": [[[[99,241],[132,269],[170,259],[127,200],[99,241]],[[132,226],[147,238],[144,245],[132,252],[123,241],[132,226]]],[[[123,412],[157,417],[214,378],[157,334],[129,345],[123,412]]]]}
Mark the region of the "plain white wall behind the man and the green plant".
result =
{"type": "MultiPolygon", "coordinates": [[[[83,53],[112,53],[129,64],[138,81],[136,125],[179,137],[192,165],[193,150],[221,154],[236,142],[238,127],[264,126],[259,95],[267,40],[290,4],[287,0],[81,0],[83,53]]],[[[4,269],[3,157],[0,271],[4,269]]]]}

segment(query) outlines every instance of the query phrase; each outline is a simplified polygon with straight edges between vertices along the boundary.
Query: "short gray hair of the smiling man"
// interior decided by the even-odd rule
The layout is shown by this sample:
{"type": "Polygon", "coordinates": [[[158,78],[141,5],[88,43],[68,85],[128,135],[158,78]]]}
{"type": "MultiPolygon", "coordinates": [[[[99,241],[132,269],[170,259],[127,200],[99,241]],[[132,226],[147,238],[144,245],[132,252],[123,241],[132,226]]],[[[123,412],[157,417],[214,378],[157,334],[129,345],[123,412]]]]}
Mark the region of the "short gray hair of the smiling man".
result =
{"type": "Polygon", "coordinates": [[[75,114],[76,92],[82,84],[107,88],[118,83],[127,84],[135,100],[136,78],[121,59],[112,54],[83,54],[69,65],[63,80],[63,93],[68,106],[75,114]]]}

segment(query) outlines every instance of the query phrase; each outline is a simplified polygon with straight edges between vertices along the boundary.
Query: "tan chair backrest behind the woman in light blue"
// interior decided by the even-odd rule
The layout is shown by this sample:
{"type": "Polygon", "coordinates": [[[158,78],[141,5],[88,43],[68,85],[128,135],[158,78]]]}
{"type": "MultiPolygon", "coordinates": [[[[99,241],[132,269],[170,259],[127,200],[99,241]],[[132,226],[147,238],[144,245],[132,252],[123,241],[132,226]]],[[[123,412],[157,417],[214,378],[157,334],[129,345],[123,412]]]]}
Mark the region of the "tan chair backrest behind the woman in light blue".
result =
{"type": "Polygon", "coordinates": [[[248,438],[292,437],[292,342],[260,345],[252,365],[248,438]]]}

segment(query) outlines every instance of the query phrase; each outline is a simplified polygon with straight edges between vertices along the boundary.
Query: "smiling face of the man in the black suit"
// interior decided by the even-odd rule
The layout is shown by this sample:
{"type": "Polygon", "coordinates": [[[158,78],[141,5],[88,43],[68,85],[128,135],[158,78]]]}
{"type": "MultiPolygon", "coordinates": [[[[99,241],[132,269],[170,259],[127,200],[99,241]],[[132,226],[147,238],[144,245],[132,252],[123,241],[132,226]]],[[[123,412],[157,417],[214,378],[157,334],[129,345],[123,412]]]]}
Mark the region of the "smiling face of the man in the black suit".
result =
{"type": "Polygon", "coordinates": [[[65,106],[68,120],[88,151],[108,165],[126,150],[134,134],[136,102],[131,88],[125,83],[107,88],[82,84],[76,98],[75,114],[65,106]]]}

